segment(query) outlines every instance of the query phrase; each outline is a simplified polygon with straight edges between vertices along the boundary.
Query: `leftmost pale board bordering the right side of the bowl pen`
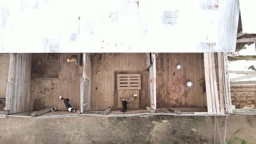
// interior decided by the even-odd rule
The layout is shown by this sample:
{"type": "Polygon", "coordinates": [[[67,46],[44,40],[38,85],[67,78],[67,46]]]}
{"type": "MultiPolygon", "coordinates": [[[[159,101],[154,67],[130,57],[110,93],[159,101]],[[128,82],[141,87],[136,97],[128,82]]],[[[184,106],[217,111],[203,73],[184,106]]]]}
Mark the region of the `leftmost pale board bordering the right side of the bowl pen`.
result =
{"type": "Polygon", "coordinates": [[[210,88],[210,72],[209,72],[209,59],[208,53],[203,53],[204,59],[204,73],[205,73],[205,86],[206,86],[206,96],[207,96],[207,109],[208,114],[213,114],[213,105],[211,98],[211,88],[210,88]]]}

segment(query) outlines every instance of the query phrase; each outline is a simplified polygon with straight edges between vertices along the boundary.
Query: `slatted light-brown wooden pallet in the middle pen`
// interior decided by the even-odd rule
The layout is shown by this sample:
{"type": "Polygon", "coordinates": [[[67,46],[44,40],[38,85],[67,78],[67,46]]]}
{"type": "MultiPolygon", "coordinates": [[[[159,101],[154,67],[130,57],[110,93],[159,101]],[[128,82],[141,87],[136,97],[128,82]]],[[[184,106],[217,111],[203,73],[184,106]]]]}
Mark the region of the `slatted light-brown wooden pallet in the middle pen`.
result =
{"type": "Polygon", "coordinates": [[[141,89],[141,74],[118,74],[117,89],[118,90],[141,89]]]}

